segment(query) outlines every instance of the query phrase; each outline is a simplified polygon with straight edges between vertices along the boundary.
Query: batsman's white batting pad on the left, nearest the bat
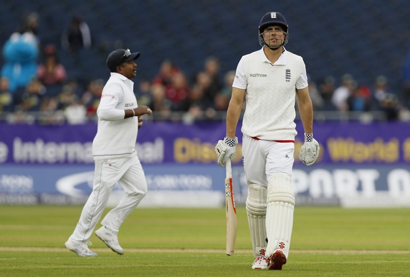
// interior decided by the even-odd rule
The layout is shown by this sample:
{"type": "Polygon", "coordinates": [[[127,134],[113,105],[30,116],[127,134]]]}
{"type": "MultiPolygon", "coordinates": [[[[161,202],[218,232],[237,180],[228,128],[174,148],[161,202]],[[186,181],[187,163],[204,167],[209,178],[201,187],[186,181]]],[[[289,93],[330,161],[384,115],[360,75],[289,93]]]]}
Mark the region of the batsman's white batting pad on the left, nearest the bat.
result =
{"type": "Polygon", "coordinates": [[[267,246],[266,198],[267,189],[265,187],[257,184],[249,185],[246,206],[255,258],[264,255],[267,246]]]}

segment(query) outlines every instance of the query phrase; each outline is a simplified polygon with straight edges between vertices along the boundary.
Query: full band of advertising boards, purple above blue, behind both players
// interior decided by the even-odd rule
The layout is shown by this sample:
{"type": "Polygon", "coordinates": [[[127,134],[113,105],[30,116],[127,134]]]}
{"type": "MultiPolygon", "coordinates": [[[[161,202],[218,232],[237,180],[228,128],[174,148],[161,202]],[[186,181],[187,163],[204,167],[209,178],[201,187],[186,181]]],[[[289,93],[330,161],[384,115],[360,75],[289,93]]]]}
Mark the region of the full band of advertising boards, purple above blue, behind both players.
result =
{"type": "MultiPolygon", "coordinates": [[[[320,156],[305,166],[298,154],[303,127],[297,122],[293,189],[298,205],[343,207],[410,206],[410,124],[315,122],[320,156]]],[[[232,167],[235,201],[244,205],[248,183],[239,144],[232,167]]],[[[224,168],[215,144],[222,121],[147,121],[135,144],[149,193],[141,206],[219,207],[224,204],[224,168]]],[[[0,204],[82,204],[93,184],[92,140],[96,123],[8,125],[0,123],[0,204]]],[[[115,185],[110,205],[123,193],[115,185]]]]}

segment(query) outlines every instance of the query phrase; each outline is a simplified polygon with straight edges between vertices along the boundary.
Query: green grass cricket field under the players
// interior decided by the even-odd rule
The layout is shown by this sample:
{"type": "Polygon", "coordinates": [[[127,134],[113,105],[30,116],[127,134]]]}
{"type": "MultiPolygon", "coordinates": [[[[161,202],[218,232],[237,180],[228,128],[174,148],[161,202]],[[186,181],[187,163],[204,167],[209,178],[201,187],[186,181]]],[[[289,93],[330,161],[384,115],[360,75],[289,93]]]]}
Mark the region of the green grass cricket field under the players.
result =
{"type": "Polygon", "coordinates": [[[118,233],[124,255],[93,235],[98,257],[77,257],[64,242],[81,209],[0,206],[0,276],[410,276],[410,209],[297,206],[282,271],[251,269],[244,207],[233,257],[222,207],[137,208],[118,233]]]}

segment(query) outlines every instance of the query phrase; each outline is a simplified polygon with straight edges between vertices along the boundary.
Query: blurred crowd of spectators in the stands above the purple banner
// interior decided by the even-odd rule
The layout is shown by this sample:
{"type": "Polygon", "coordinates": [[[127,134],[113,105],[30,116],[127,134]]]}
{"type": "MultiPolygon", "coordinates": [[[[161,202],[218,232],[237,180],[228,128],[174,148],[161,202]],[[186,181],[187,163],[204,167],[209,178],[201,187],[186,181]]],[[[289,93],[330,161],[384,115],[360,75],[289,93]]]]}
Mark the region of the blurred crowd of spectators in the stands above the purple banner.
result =
{"type": "MultiPolygon", "coordinates": [[[[59,55],[75,56],[79,48],[91,48],[90,29],[76,15],[61,34],[61,47],[43,46],[37,34],[38,14],[29,14],[18,32],[3,46],[4,64],[0,77],[0,114],[9,122],[80,124],[95,118],[101,92],[109,77],[86,83],[67,76],[59,55]],[[64,52],[63,52],[64,51],[64,52]],[[61,53],[62,52],[62,53],[61,53]],[[8,113],[5,113],[8,112],[8,113]]],[[[238,57],[239,60],[240,57],[238,57]]],[[[143,70],[143,69],[142,69],[143,70]]],[[[403,91],[389,89],[385,76],[378,76],[371,87],[344,74],[336,79],[309,80],[315,111],[382,112],[387,120],[410,120],[410,53],[404,66],[403,91]]],[[[192,76],[176,61],[164,60],[157,75],[135,84],[140,105],[148,105],[157,119],[178,114],[185,122],[214,119],[228,109],[235,69],[220,71],[220,61],[210,56],[203,68],[192,76]]],[[[245,101],[243,109],[245,108],[245,101]]]]}

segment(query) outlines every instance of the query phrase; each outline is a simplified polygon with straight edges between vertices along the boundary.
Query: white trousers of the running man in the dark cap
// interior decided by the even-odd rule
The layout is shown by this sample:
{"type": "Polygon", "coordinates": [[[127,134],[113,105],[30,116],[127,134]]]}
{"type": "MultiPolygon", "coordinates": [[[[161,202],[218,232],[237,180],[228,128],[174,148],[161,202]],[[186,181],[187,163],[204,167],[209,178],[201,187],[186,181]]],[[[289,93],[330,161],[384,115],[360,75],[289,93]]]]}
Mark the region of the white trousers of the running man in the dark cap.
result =
{"type": "Polygon", "coordinates": [[[124,188],[125,195],[101,221],[102,225],[114,232],[118,232],[122,222],[147,194],[147,180],[136,153],[132,158],[95,161],[93,191],[70,240],[85,241],[91,237],[116,182],[124,188]]]}

